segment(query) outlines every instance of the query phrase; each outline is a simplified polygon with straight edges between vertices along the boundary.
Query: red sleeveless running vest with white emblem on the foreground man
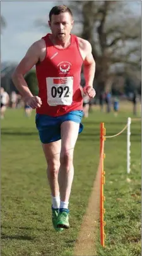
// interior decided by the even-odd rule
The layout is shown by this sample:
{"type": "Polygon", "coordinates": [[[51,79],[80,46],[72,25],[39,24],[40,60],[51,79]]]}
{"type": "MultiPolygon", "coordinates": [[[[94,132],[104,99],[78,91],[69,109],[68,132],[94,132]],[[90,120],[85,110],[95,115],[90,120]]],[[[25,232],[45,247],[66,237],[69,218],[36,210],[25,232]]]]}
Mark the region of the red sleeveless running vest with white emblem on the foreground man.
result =
{"type": "Polygon", "coordinates": [[[82,110],[80,74],[83,58],[77,37],[71,34],[71,44],[65,49],[56,48],[49,34],[42,39],[45,40],[47,53],[45,59],[36,65],[38,96],[42,100],[37,113],[61,116],[82,110]]]}

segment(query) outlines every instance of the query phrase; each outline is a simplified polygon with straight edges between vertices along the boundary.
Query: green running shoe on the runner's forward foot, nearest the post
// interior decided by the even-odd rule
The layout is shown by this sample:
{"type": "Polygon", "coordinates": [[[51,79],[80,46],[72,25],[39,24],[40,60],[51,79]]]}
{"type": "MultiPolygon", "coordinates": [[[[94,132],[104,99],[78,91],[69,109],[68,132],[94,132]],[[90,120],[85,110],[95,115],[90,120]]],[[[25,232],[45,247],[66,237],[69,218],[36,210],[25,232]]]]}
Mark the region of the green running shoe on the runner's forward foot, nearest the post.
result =
{"type": "Polygon", "coordinates": [[[57,227],[69,229],[69,210],[60,209],[57,216],[57,227]]]}

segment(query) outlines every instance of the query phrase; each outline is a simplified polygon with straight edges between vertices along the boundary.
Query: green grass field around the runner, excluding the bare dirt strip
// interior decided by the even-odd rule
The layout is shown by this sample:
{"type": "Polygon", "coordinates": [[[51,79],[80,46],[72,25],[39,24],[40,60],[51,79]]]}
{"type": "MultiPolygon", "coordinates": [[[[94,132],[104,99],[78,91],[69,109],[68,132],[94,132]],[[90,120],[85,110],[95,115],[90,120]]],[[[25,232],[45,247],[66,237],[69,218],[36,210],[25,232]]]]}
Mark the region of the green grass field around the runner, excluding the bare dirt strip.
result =
{"type": "MultiPolygon", "coordinates": [[[[51,224],[50,190],[35,114],[8,110],[1,121],[1,255],[70,256],[88,206],[99,162],[99,127],[106,135],[126,125],[131,114],[93,112],[83,120],[74,151],[74,181],[69,209],[71,228],[57,233],[51,224]]],[[[131,125],[131,173],[126,173],[126,131],[105,141],[105,248],[95,243],[99,256],[141,255],[141,122],[131,125]],[[129,179],[128,179],[129,178],[129,179]]],[[[78,255],[80,256],[80,255],[78,255]]]]}

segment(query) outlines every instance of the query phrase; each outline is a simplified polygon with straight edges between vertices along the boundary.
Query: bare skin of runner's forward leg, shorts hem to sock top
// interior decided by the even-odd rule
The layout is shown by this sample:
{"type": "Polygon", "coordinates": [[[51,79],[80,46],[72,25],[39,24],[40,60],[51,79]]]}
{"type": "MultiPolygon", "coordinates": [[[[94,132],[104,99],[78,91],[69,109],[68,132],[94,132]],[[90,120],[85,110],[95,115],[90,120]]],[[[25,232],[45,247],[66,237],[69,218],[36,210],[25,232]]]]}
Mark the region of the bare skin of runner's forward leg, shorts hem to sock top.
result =
{"type": "MultiPolygon", "coordinates": [[[[59,169],[59,189],[61,202],[67,203],[73,182],[73,152],[78,138],[79,123],[65,121],[61,125],[61,155],[59,169]]],[[[65,208],[65,207],[63,207],[65,208]]]]}

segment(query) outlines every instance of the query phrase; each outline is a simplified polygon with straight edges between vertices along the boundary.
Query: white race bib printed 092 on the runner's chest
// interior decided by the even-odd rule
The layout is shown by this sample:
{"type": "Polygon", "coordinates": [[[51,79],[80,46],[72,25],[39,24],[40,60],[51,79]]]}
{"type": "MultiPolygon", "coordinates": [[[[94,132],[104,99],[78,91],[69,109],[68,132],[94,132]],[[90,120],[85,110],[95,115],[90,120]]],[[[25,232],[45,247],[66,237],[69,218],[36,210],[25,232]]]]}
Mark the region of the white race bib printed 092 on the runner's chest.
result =
{"type": "Polygon", "coordinates": [[[50,106],[71,105],[73,102],[73,77],[47,77],[47,103],[50,106]]]}

